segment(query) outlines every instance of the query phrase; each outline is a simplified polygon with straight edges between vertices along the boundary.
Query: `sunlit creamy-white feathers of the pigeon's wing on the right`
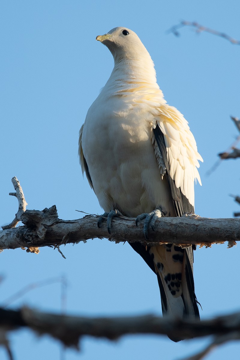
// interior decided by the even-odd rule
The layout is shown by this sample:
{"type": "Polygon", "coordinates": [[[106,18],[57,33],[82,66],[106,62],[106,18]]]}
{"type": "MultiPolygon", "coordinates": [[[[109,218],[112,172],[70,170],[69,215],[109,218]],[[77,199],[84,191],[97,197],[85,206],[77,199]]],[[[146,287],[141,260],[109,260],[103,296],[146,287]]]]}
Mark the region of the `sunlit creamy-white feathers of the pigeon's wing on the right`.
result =
{"type": "MultiPolygon", "coordinates": [[[[158,125],[164,135],[169,175],[175,181],[176,187],[180,188],[182,194],[194,206],[194,180],[198,179],[201,185],[197,168],[198,160],[203,161],[203,159],[198,153],[196,141],[183,115],[175,107],[167,104],[160,105],[158,110],[159,116],[154,117],[155,123],[151,123],[151,126],[155,129],[158,125]]],[[[166,173],[166,166],[154,136],[152,142],[163,176],[166,173]]]]}

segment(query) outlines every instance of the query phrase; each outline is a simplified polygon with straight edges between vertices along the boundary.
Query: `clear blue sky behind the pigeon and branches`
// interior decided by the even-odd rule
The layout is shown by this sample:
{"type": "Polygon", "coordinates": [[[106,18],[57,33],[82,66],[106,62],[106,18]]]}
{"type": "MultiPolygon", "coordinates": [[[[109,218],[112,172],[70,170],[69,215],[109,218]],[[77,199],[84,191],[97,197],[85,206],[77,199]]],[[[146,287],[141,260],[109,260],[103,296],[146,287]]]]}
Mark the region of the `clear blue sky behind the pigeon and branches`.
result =
{"type": "MultiPolygon", "coordinates": [[[[206,172],[226,150],[237,130],[230,115],[240,117],[239,51],[220,37],[182,28],[181,36],[166,30],[180,20],[197,21],[240,39],[239,1],[1,1],[1,211],[0,225],[13,220],[17,200],[11,179],[21,182],[28,209],[56,204],[61,219],[77,219],[82,210],[102,213],[77,157],[78,131],[86,112],[108,80],[113,58],[95,41],[116,26],[139,35],[157,71],[167,102],[180,110],[204,159],[203,186],[195,187],[195,212],[204,217],[232,217],[239,206],[229,194],[240,193],[239,160],[222,162],[206,172]]],[[[67,312],[82,315],[161,314],[155,275],[128,244],[106,239],[39,255],[21,249],[0,254],[4,281],[0,300],[33,282],[64,275],[68,281],[67,312]]],[[[195,252],[196,295],[201,318],[239,310],[236,273],[239,246],[227,244],[195,252]]],[[[11,304],[60,311],[60,284],[36,288],[11,304]]],[[[27,330],[10,336],[15,359],[60,359],[58,342],[27,330]]],[[[158,336],[129,336],[118,342],[84,338],[79,355],[66,360],[155,359],[189,355],[209,339],[173,343],[158,336]]],[[[207,359],[223,360],[240,346],[230,343],[207,359]]],[[[1,359],[5,352],[0,349],[1,359]]]]}

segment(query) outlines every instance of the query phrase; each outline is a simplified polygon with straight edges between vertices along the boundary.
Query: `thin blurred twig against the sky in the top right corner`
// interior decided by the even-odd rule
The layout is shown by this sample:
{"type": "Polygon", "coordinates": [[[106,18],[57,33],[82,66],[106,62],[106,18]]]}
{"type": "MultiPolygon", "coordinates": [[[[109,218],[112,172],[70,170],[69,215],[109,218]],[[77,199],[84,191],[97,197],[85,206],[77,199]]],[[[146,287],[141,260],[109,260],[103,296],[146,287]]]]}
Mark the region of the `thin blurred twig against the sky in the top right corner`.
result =
{"type": "Polygon", "coordinates": [[[180,32],[178,31],[180,28],[184,27],[184,26],[190,26],[190,27],[193,27],[195,28],[196,30],[196,33],[201,33],[201,32],[208,32],[210,34],[213,34],[213,35],[217,35],[217,36],[220,36],[220,37],[223,37],[223,39],[226,39],[228,41],[231,42],[231,44],[236,44],[236,45],[240,45],[240,41],[239,40],[235,40],[233,39],[232,37],[228,36],[227,34],[225,33],[222,33],[220,31],[216,31],[216,30],[213,30],[213,29],[210,29],[209,27],[205,27],[205,26],[202,26],[200,24],[198,24],[197,22],[193,21],[181,21],[179,24],[177,25],[174,25],[172,26],[167,32],[172,32],[174,35],[176,36],[180,36],[180,32]]]}

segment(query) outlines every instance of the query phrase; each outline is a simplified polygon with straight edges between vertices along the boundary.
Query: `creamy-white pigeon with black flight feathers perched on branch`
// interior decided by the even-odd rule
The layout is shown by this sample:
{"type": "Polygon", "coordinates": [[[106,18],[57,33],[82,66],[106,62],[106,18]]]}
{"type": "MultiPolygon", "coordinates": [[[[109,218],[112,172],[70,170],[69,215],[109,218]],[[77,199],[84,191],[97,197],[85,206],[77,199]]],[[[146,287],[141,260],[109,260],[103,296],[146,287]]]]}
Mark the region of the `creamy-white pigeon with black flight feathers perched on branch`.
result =
{"type": "MultiPolygon", "coordinates": [[[[96,40],[111,51],[114,68],[80,129],[82,172],[103,216],[109,213],[111,221],[121,212],[137,217],[136,222],[145,218],[147,237],[148,225],[154,227],[157,218],[194,213],[194,181],[201,183],[197,168],[202,158],[187,121],[166,104],[139,37],[116,27],[96,40]]],[[[199,318],[195,247],[130,245],[157,274],[163,315],[199,318]]]]}

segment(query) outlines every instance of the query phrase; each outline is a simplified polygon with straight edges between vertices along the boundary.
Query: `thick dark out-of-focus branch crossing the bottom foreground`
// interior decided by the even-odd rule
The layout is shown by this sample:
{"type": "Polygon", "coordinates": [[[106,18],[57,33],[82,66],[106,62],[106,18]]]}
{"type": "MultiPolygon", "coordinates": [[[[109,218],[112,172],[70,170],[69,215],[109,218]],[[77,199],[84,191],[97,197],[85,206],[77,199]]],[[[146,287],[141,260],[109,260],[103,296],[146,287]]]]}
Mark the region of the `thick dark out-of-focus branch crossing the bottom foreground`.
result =
{"type": "MultiPolygon", "coordinates": [[[[154,315],[89,318],[41,312],[28,307],[0,309],[0,328],[14,330],[28,327],[38,334],[49,334],[65,346],[79,349],[82,336],[116,340],[127,334],[159,334],[191,339],[213,335],[208,347],[188,359],[202,359],[214,346],[240,339],[240,312],[210,320],[182,320],[154,315]]],[[[7,331],[7,330],[6,330],[7,331]]]]}

